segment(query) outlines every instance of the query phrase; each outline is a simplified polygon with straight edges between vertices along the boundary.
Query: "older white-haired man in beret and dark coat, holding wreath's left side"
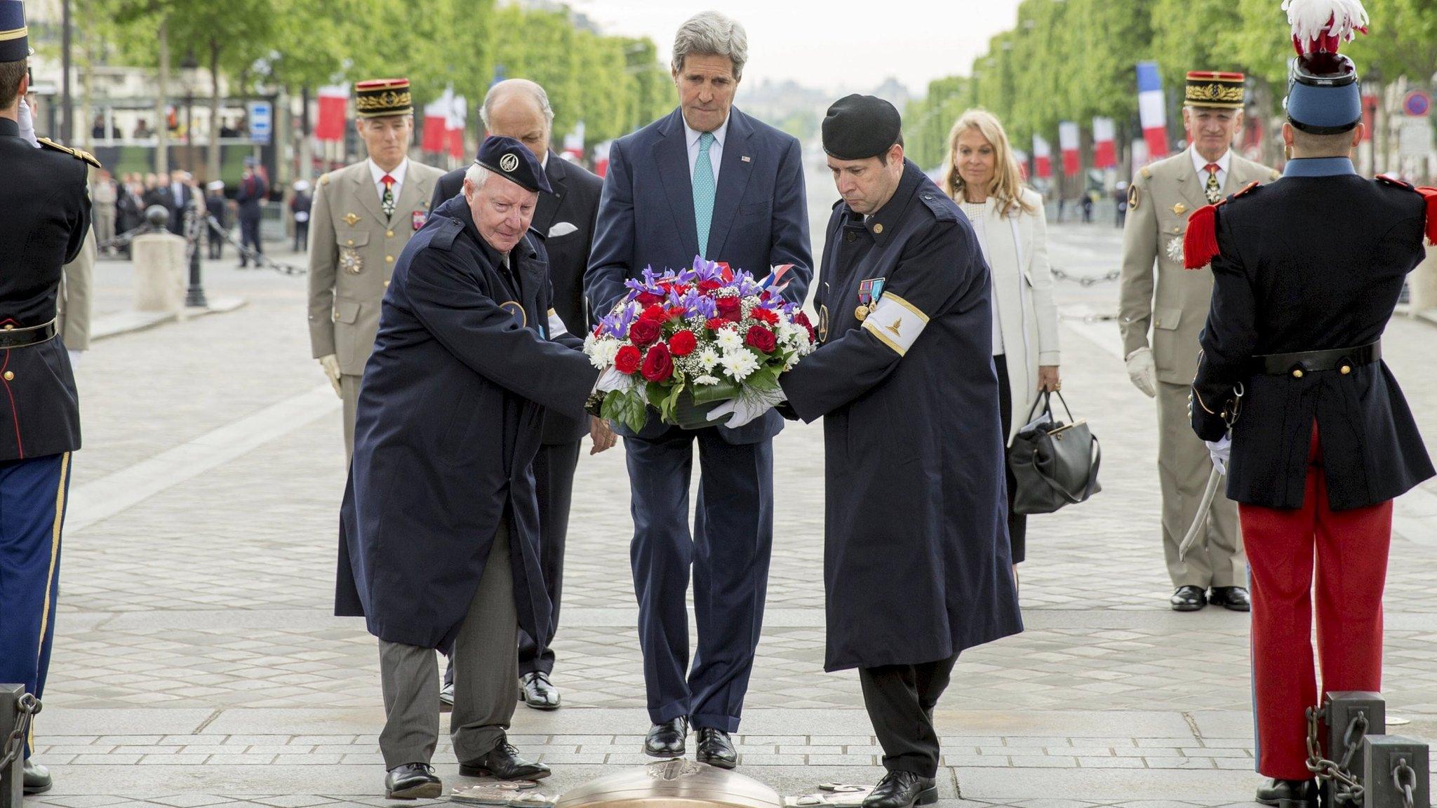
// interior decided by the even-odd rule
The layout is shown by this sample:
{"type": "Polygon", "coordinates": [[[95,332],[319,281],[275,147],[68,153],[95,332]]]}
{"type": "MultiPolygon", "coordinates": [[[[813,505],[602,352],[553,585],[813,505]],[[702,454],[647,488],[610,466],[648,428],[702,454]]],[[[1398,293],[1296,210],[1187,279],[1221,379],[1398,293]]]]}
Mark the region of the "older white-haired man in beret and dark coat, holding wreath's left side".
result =
{"type": "Polygon", "coordinates": [[[545,408],[582,418],[599,375],[553,315],[546,256],[529,234],[549,190],[522,142],[486,139],[463,196],[395,262],[365,364],[335,612],[364,615],[379,638],[391,798],[440,796],[435,648],[454,661],[460,773],[549,773],[504,735],[519,702],[517,630],[549,635],[530,467],[545,408]]]}

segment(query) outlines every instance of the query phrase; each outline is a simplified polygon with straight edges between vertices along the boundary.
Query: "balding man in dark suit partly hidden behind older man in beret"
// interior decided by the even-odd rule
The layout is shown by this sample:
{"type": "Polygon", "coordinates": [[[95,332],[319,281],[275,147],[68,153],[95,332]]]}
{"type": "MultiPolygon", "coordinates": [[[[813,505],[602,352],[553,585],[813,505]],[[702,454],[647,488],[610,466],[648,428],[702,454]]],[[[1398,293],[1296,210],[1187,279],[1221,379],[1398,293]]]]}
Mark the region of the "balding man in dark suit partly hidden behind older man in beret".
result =
{"type": "MultiPolygon", "coordinates": [[[[586,334],[588,306],[583,305],[583,269],[593,243],[593,223],[599,213],[604,180],[573,165],[549,148],[553,109],[549,95],[527,79],[509,79],[489,88],[479,112],[484,129],[525,144],[539,158],[552,191],[539,194],[530,230],[545,240],[549,253],[549,282],[553,309],[569,334],[586,334]]],[[[430,210],[464,190],[464,170],[450,171],[434,185],[430,210]]],[[[559,706],[553,676],[553,643],[559,628],[559,595],[563,589],[563,545],[569,532],[569,505],[573,497],[573,469],[579,464],[579,441],[593,439],[593,453],[615,443],[615,436],[598,418],[583,421],[553,410],[545,411],[543,444],[535,457],[535,490],[539,496],[539,549],[545,589],[553,604],[549,635],[543,651],[527,633],[519,633],[519,684],[525,703],[539,710],[559,706]]],[[[444,674],[441,699],[453,704],[453,667],[444,674]]]]}

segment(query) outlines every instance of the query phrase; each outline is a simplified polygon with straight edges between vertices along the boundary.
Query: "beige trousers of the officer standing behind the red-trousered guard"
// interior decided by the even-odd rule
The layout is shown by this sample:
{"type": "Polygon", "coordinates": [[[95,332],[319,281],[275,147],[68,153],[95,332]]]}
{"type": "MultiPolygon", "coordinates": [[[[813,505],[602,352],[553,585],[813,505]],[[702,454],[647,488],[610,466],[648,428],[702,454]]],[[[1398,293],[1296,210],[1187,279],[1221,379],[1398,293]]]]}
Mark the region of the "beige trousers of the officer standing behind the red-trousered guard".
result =
{"type": "Polygon", "coordinates": [[[1168,577],[1174,587],[1246,587],[1247,556],[1237,529],[1237,503],[1227,499],[1226,489],[1219,489],[1207,510],[1207,535],[1198,538],[1186,559],[1177,556],[1213,472],[1213,459],[1187,414],[1187,392],[1186,384],[1158,382],[1158,479],[1168,577]]]}

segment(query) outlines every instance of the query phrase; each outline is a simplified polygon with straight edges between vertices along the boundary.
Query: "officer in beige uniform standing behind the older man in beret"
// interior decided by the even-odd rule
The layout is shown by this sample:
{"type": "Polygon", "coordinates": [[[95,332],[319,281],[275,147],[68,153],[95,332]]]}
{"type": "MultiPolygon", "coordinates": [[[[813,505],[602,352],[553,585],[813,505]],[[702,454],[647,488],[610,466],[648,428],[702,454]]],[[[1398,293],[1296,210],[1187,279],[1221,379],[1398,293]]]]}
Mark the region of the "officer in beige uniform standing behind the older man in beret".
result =
{"type": "Polygon", "coordinates": [[[319,178],[309,247],[309,344],[345,401],[346,456],[354,454],[355,403],[379,331],[379,300],[399,252],[428,219],[443,174],[408,158],[408,79],[356,83],[355,116],[369,158],[319,178]]]}

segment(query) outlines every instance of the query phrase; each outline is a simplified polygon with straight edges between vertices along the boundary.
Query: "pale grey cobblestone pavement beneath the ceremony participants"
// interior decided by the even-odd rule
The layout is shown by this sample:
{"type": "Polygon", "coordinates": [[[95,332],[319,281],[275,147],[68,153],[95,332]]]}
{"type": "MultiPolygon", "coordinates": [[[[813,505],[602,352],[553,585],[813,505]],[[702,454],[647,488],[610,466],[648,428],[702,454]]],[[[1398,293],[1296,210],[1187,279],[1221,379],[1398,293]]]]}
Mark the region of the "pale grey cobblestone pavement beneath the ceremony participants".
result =
{"type": "MultiPolygon", "coordinates": [[[[1055,266],[1117,263],[1111,226],[1053,227],[1055,266]]],[[[300,263],[300,262],[296,262],[300,263]]],[[[78,377],[60,615],[37,722],[66,808],[382,805],[378,666],[329,615],[343,487],[338,400],[309,358],[305,280],[207,267],[239,311],[96,342],[78,377]]],[[[128,265],[103,262],[102,312],[128,265]]],[[[1036,518],[1022,566],[1027,630],[964,654],[940,704],[943,795],[979,805],[1247,805],[1247,617],[1174,614],[1158,542],[1155,416],[1117,357],[1114,283],[1061,282],[1065,392],[1104,444],[1104,492],[1036,518]]],[[[1437,439],[1433,331],[1400,319],[1384,354],[1437,439]]],[[[1437,444],[1437,440],[1433,441],[1437,444]]],[[[776,441],[769,610],[741,771],[780,792],[881,773],[856,677],[822,673],[818,426],[776,441]]],[[[583,457],[555,681],[513,740],[559,791],[638,765],[647,716],[628,571],[622,450],[583,457]]],[[[1398,506],[1387,592],[1388,712],[1437,738],[1437,485],[1398,506]]],[[[467,782],[447,740],[435,763],[467,782]]]]}

